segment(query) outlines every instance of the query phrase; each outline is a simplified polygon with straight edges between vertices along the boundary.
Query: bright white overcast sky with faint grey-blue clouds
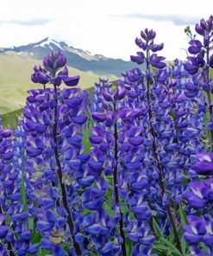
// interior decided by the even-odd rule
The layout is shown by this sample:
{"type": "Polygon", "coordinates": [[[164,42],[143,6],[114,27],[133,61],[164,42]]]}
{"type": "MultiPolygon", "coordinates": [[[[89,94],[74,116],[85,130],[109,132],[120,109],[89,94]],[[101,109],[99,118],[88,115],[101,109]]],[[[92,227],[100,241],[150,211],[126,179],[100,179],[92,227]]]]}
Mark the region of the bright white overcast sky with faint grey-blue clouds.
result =
{"type": "Polygon", "coordinates": [[[92,54],[129,60],[141,29],[154,29],[166,59],[185,59],[187,25],[213,12],[204,0],[0,0],[0,47],[49,36],[92,54]],[[203,3],[203,6],[202,6],[203,3]]]}

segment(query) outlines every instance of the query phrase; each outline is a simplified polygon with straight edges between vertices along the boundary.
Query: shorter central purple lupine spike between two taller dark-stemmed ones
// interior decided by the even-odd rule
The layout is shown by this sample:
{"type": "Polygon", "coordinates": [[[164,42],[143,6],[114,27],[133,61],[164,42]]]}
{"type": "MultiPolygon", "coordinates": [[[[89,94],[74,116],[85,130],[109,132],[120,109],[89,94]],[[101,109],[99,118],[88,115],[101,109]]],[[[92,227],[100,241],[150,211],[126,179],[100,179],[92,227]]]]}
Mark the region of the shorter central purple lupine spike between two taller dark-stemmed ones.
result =
{"type": "Polygon", "coordinates": [[[111,252],[128,255],[127,238],[134,242],[132,255],[148,255],[154,240],[147,226],[151,213],[142,202],[141,189],[145,189],[146,184],[142,182],[139,162],[142,160],[139,150],[141,129],[135,126],[141,111],[125,106],[125,93],[122,86],[115,90],[111,86],[102,88],[103,109],[91,113],[95,126],[91,128],[88,174],[94,176],[95,182],[85,191],[83,201],[85,208],[97,213],[87,215],[83,226],[85,234],[90,234],[90,244],[100,255],[110,255],[111,252]],[[129,173],[128,168],[131,169],[129,173]],[[142,216],[140,210],[144,211],[142,216]],[[98,225],[90,222],[93,223],[91,229],[88,220],[94,215],[103,216],[103,221],[98,225]],[[103,234],[104,238],[97,234],[103,234]]]}

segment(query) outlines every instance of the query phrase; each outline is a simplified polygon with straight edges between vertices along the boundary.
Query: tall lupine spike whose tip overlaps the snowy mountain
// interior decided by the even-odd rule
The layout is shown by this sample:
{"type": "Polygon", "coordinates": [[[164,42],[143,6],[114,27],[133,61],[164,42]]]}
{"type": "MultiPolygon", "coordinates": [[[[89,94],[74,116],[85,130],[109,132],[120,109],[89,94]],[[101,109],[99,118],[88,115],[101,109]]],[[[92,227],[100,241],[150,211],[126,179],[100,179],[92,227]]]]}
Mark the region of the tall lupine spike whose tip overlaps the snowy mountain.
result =
{"type": "Polygon", "coordinates": [[[60,89],[62,81],[75,86],[79,80],[78,76],[68,76],[66,57],[60,51],[47,55],[43,65],[34,70],[34,82],[42,83],[36,80],[36,72],[41,72],[53,88],[28,91],[23,111],[29,212],[41,232],[44,249],[65,255],[61,243],[69,240],[72,253],[81,255],[84,247],[75,239],[76,213],[84,209],[84,204],[76,192],[88,182],[84,173],[89,157],[81,144],[87,95],[78,88],[60,89]]]}

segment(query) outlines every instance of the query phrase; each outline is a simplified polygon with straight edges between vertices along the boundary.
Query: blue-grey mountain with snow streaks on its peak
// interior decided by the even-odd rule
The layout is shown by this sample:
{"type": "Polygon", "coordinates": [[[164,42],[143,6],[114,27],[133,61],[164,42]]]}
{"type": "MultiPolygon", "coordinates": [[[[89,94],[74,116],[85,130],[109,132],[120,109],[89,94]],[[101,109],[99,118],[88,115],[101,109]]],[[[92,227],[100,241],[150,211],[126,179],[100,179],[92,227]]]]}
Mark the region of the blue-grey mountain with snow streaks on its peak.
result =
{"type": "Polygon", "coordinates": [[[73,48],[68,46],[66,42],[57,42],[49,37],[25,46],[0,48],[0,54],[12,52],[22,57],[41,60],[45,55],[50,54],[52,50],[58,48],[66,55],[67,65],[81,71],[92,71],[99,75],[116,75],[119,77],[122,71],[136,67],[136,64],[130,61],[107,58],[102,54],[91,54],[89,51],[73,48]]]}

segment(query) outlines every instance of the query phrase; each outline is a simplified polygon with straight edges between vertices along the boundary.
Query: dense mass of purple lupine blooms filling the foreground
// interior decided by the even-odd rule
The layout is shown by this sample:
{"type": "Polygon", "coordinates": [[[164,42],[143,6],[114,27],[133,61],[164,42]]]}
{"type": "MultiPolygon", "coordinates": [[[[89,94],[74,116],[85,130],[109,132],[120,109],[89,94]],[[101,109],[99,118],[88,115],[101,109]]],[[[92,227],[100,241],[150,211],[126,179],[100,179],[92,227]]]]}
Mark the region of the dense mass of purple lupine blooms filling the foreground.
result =
{"type": "Polygon", "coordinates": [[[92,97],[60,51],[34,67],[16,131],[0,123],[0,255],[213,255],[213,16],[195,29],[167,64],[141,31],[145,71],[92,97]]]}

